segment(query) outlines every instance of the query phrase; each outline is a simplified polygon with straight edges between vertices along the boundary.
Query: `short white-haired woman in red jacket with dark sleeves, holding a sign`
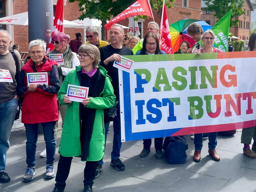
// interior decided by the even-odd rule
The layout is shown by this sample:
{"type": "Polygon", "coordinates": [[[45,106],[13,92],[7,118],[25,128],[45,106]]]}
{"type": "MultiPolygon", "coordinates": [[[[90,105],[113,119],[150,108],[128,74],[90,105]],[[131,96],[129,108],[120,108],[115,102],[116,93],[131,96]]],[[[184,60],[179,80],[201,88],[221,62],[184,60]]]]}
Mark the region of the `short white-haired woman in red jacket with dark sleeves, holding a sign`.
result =
{"type": "Polygon", "coordinates": [[[56,121],[59,120],[56,95],[60,89],[57,63],[46,57],[45,41],[41,39],[31,41],[28,51],[31,59],[22,67],[17,86],[19,95],[24,97],[21,122],[25,125],[27,136],[26,163],[28,166],[23,177],[24,182],[33,180],[33,176],[36,174],[35,156],[38,123],[43,126],[47,149],[45,178],[55,177],[53,167],[56,149],[54,128],[56,121]],[[29,78],[28,81],[30,75],[33,77],[29,78]],[[48,80],[47,83],[44,82],[46,79],[48,80]]]}

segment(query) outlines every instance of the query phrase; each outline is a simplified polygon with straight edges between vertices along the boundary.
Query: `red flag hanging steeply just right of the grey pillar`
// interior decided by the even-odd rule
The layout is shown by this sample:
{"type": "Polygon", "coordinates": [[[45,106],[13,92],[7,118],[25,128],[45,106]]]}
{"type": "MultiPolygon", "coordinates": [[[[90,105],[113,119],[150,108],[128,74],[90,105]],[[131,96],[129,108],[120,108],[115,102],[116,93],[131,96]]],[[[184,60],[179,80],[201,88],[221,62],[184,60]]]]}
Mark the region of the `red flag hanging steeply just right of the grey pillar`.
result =
{"type": "Polygon", "coordinates": [[[58,0],[55,11],[55,18],[53,21],[53,30],[48,45],[47,53],[54,49],[53,44],[51,44],[52,36],[54,33],[63,32],[63,16],[64,15],[64,0],[58,0]]]}

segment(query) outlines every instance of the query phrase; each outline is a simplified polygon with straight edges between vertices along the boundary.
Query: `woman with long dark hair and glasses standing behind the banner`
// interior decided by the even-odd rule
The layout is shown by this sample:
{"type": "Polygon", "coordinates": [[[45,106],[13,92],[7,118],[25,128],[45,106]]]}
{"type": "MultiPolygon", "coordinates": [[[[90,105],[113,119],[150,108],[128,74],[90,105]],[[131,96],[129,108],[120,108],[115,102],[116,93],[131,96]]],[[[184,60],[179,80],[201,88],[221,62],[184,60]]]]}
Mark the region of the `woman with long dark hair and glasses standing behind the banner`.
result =
{"type": "MultiPolygon", "coordinates": [[[[147,33],[144,37],[142,44],[142,49],[137,51],[135,55],[159,55],[166,54],[164,51],[160,50],[159,42],[156,34],[147,33]]],[[[144,158],[150,152],[151,139],[143,139],[143,150],[140,153],[140,157],[144,158]]],[[[163,137],[155,138],[155,149],[156,149],[156,158],[163,158],[162,152],[163,137]]]]}

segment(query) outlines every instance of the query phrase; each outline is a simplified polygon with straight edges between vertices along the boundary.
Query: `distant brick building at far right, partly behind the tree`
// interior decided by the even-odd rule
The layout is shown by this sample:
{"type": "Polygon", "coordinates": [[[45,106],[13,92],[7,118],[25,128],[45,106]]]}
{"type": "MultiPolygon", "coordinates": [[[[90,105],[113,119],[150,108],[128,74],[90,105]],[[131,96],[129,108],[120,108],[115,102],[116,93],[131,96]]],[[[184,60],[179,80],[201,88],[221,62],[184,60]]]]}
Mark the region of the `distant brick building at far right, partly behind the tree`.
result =
{"type": "MultiPolygon", "coordinates": [[[[205,4],[202,2],[202,20],[204,20],[209,25],[214,26],[218,22],[218,19],[216,17],[213,17],[213,12],[205,11],[205,7],[205,4]]],[[[234,36],[238,37],[240,40],[246,41],[249,39],[250,36],[251,11],[253,11],[250,0],[245,0],[242,9],[245,11],[245,14],[240,15],[239,17],[235,17],[235,19],[239,19],[238,25],[231,27],[229,29],[229,32],[232,33],[234,36]]]]}

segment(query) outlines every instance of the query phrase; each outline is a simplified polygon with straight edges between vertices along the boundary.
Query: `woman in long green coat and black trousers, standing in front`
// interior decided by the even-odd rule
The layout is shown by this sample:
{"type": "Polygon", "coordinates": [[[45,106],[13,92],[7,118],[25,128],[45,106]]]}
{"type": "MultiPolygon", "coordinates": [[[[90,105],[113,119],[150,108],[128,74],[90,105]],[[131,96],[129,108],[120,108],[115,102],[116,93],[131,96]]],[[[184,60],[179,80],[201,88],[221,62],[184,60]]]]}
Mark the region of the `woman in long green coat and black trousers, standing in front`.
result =
{"type": "Polygon", "coordinates": [[[104,156],[104,109],[114,105],[115,95],[107,71],[99,66],[100,52],[92,44],[82,45],[77,57],[80,66],[66,76],[59,92],[61,105],[67,105],[60,140],[60,160],[53,192],[62,192],[66,186],[73,156],[86,161],[84,192],[92,192],[97,161],[104,156]],[[71,101],[68,85],[89,87],[88,97],[82,102],[71,101]]]}

